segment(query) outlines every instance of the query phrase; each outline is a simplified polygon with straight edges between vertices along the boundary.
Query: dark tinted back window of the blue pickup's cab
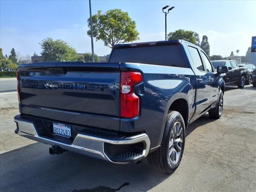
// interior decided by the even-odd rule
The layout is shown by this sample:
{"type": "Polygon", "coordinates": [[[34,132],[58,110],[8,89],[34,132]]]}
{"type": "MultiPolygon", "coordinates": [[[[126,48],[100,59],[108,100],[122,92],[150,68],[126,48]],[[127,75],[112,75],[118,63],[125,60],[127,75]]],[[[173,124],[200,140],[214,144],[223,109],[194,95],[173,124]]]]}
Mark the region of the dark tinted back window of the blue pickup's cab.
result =
{"type": "Polygon", "coordinates": [[[110,62],[130,62],[186,68],[181,45],[157,45],[114,49],[110,62]]]}

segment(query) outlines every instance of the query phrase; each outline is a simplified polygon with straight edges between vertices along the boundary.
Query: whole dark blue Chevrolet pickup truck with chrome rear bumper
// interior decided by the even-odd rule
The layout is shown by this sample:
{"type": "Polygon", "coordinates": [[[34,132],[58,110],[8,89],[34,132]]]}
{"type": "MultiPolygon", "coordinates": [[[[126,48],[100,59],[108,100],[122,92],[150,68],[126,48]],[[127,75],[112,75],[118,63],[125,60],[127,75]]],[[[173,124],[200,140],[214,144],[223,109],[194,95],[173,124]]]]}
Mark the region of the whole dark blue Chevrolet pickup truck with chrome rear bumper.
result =
{"type": "Polygon", "coordinates": [[[188,124],[220,118],[227,66],[183,40],[114,46],[106,63],[18,66],[16,134],[112,163],[140,162],[172,173],[188,124]]]}

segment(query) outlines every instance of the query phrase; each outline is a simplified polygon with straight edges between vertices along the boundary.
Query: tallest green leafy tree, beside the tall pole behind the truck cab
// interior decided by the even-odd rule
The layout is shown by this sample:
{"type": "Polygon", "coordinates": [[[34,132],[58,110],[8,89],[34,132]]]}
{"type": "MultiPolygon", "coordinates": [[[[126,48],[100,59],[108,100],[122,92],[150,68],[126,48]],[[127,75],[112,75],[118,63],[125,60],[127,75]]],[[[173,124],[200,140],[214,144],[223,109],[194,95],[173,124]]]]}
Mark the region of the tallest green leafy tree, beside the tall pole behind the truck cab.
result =
{"type": "MultiPolygon", "coordinates": [[[[88,19],[90,28],[90,18],[88,19]]],[[[96,41],[102,40],[105,46],[113,48],[115,44],[123,44],[139,39],[136,22],[129,17],[128,12],[120,9],[108,10],[105,14],[98,11],[92,16],[92,30],[96,41]]],[[[91,31],[87,34],[91,36],[91,31]]]]}

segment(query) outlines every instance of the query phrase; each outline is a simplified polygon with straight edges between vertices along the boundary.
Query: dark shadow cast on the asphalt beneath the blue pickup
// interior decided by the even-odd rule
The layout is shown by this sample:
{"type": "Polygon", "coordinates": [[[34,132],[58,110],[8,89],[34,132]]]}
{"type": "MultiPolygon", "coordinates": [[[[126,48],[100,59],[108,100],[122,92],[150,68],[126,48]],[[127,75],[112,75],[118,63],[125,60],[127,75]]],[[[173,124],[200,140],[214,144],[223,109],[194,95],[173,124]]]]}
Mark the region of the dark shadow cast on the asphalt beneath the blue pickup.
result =
{"type": "MultiPolygon", "coordinates": [[[[212,121],[203,115],[189,125],[187,136],[212,121]]],[[[1,154],[1,191],[148,191],[170,177],[154,171],[146,158],[139,164],[119,165],[72,152],[50,155],[49,147],[35,143],[1,154]]]]}

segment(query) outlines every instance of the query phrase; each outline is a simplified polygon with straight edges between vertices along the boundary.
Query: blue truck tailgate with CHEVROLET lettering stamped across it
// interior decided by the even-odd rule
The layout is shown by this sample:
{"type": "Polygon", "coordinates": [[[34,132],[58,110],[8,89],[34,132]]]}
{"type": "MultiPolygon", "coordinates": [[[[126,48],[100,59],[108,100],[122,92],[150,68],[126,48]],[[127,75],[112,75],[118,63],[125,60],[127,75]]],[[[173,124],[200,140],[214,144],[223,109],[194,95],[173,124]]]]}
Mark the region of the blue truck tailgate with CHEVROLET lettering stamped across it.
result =
{"type": "Polygon", "coordinates": [[[119,130],[119,63],[25,64],[19,71],[22,114],[119,130]]]}

